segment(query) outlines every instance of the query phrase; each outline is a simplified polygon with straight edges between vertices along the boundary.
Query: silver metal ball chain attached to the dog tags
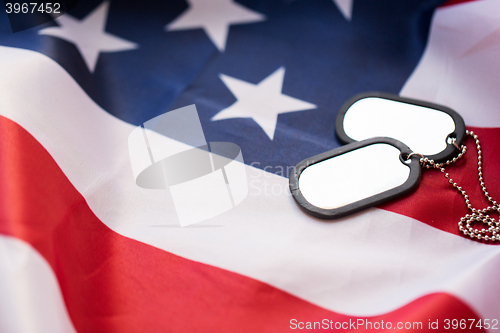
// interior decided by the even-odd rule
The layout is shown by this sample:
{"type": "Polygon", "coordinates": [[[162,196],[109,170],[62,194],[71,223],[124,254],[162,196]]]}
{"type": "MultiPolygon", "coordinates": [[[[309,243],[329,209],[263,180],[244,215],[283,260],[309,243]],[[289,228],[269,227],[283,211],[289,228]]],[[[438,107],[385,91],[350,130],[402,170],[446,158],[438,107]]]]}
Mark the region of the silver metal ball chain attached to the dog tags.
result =
{"type": "MultiPolygon", "coordinates": [[[[467,151],[467,146],[462,145],[462,147],[459,149],[460,153],[454,157],[452,160],[446,161],[444,163],[436,163],[433,160],[428,159],[427,157],[422,157],[420,159],[420,164],[422,167],[426,167],[427,169],[429,168],[435,168],[439,169],[446,179],[448,179],[448,182],[453,186],[464,198],[465,204],[467,205],[467,208],[472,212],[471,214],[467,214],[464,217],[460,219],[460,222],[458,222],[458,229],[466,236],[469,236],[472,239],[478,239],[478,240],[485,240],[485,241],[500,241],[500,221],[496,221],[492,217],[490,217],[488,214],[491,214],[492,212],[497,212],[500,214],[500,205],[498,202],[493,200],[493,198],[490,196],[488,193],[488,190],[486,189],[486,186],[484,184],[484,179],[483,179],[483,153],[481,151],[481,144],[479,142],[479,139],[476,134],[472,131],[466,131],[466,134],[471,136],[474,141],[476,142],[476,148],[477,148],[477,172],[479,176],[479,184],[481,185],[481,190],[483,191],[484,196],[486,199],[488,199],[488,202],[491,203],[491,206],[488,206],[484,209],[476,209],[472,207],[469,196],[467,193],[462,189],[462,187],[458,186],[457,183],[453,181],[453,179],[450,178],[450,175],[446,172],[444,169],[444,165],[450,165],[451,163],[456,162],[458,159],[462,158],[462,156],[465,154],[467,151]],[[482,228],[482,229],[475,229],[471,227],[471,223],[473,222],[482,222],[483,224],[487,225],[487,228],[482,228]]],[[[452,140],[452,143],[457,147],[457,144],[455,143],[454,140],[452,140]]],[[[418,154],[420,155],[420,154],[418,154]]],[[[421,155],[420,155],[421,156],[421,155]]],[[[411,156],[408,156],[408,158],[411,156]]]]}

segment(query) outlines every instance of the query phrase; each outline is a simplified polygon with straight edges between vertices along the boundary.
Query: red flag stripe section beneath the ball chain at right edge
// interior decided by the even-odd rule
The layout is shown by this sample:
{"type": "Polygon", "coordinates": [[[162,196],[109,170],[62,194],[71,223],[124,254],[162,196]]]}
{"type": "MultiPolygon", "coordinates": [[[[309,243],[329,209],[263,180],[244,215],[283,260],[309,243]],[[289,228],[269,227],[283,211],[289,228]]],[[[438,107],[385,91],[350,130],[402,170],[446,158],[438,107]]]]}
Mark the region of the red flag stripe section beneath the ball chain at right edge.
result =
{"type": "MultiPolygon", "coordinates": [[[[500,129],[473,128],[478,135],[483,152],[483,177],[493,199],[500,202],[500,129]]],[[[468,138],[464,158],[446,167],[450,177],[469,195],[473,207],[487,206],[477,175],[477,150],[474,140],[468,138]]],[[[391,201],[380,208],[413,217],[435,228],[460,234],[458,221],[470,213],[462,196],[448,183],[438,170],[425,170],[418,189],[399,200],[391,201]]],[[[481,227],[481,226],[478,226],[481,227]]],[[[488,244],[499,245],[499,242],[488,244]]]]}

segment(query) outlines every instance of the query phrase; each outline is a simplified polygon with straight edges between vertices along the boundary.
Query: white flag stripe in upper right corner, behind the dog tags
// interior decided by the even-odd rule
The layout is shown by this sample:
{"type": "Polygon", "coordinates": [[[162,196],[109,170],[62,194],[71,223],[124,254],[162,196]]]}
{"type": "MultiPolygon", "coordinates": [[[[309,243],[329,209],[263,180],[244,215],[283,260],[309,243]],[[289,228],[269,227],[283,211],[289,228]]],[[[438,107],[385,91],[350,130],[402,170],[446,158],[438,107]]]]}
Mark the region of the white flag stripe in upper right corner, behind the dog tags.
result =
{"type": "Polygon", "coordinates": [[[427,48],[400,94],[451,107],[469,126],[500,127],[500,1],[438,9],[427,48]]]}

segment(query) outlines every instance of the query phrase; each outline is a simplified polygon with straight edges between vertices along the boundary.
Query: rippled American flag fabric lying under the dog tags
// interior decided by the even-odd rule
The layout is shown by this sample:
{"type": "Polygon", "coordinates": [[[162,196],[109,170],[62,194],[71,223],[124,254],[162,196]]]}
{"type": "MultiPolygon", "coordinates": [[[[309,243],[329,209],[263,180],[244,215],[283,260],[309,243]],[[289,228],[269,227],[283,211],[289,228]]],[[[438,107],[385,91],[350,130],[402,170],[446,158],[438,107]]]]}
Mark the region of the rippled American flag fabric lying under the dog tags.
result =
{"type": "MultiPolygon", "coordinates": [[[[376,90],[460,113],[498,200],[499,52],[497,0],[92,0],[17,33],[2,11],[0,332],[495,332],[498,242],[459,232],[439,171],[333,222],[287,177],[376,90]],[[128,137],[191,104],[207,142],[241,147],[248,195],[180,227],[128,137]]],[[[465,143],[448,169],[483,208],[465,143]]]]}

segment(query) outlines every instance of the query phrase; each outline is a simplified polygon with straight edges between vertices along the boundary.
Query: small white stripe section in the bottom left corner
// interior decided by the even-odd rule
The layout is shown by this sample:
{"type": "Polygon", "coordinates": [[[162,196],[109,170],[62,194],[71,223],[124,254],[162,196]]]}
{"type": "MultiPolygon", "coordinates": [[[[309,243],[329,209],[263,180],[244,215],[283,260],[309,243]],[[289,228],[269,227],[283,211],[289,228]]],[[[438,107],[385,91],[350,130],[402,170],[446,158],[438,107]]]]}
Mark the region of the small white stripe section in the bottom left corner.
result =
{"type": "Polygon", "coordinates": [[[49,264],[25,242],[0,235],[0,332],[76,332],[49,264]]]}

